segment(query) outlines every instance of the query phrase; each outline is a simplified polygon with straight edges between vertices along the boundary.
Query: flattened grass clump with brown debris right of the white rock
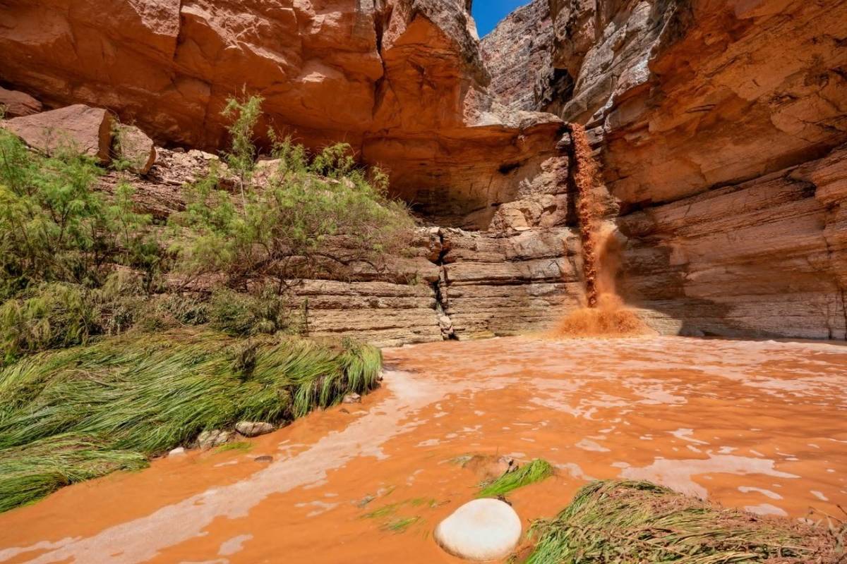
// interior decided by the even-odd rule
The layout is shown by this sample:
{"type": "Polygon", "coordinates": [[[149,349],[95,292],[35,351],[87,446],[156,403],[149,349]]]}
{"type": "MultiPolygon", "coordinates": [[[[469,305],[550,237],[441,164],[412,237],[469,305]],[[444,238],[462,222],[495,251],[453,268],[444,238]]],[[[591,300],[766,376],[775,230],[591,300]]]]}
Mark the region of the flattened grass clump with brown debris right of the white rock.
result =
{"type": "Polygon", "coordinates": [[[526,564],[837,561],[835,539],[817,529],[719,509],[648,482],[594,482],[531,532],[526,564]]]}

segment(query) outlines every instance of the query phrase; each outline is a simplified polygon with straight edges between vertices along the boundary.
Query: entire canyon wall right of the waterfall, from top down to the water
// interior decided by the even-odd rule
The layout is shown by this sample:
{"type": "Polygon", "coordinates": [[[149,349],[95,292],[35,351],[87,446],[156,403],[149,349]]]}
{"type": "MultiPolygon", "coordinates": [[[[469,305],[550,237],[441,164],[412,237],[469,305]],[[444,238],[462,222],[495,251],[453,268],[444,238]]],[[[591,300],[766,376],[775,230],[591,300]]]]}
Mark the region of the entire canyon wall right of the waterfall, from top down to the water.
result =
{"type": "Polygon", "coordinates": [[[585,124],[653,326],[845,338],[847,4],[535,0],[483,52],[501,103],[585,124]]]}

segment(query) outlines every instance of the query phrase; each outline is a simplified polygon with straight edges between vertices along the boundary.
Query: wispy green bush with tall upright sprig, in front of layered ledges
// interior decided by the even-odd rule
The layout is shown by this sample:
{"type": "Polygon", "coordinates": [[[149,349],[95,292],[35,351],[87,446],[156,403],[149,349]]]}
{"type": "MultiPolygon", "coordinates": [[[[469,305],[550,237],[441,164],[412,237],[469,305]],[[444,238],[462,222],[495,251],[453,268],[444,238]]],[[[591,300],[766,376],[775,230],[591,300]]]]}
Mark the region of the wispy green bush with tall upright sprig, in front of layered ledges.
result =
{"type": "Polygon", "coordinates": [[[355,167],[349,145],[332,145],[308,163],[302,146],[272,132],[278,167],[261,185],[252,183],[260,105],[253,97],[227,106],[236,118],[226,161],[245,181],[240,196],[219,188],[221,171],[213,167],[186,187],[185,212],[172,217],[185,275],[225,272],[230,287],[258,280],[284,293],[297,279],[377,266],[381,255],[405,247],[411,217],[387,198],[385,174],[374,171],[368,181],[355,167]]]}

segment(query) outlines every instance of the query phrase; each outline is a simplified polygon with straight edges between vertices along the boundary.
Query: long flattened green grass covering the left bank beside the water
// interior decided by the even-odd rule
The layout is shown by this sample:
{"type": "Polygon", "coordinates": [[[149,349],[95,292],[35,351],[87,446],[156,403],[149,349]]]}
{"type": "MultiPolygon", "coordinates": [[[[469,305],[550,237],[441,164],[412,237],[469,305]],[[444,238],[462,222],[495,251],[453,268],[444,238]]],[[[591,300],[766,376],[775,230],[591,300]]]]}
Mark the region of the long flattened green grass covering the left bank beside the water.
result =
{"type": "Polygon", "coordinates": [[[0,512],[245,420],[282,421],[376,386],[376,348],[212,332],[103,339],[0,370],[0,512]]]}

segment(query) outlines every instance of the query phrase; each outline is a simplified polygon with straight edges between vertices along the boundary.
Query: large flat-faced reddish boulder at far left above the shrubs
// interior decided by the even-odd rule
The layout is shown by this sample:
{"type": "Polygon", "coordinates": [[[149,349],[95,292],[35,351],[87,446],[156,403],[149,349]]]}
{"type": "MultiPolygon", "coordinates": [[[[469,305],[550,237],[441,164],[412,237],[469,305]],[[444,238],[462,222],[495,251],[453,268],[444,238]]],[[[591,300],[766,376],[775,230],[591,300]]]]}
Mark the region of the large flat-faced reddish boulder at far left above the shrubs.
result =
{"type": "Polygon", "coordinates": [[[109,161],[112,145],[112,117],[99,107],[83,104],[50,112],[12,118],[3,127],[37,151],[53,155],[57,151],[78,151],[100,162],[109,161]]]}

